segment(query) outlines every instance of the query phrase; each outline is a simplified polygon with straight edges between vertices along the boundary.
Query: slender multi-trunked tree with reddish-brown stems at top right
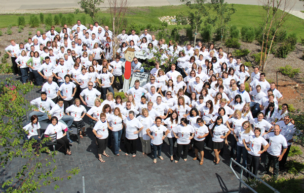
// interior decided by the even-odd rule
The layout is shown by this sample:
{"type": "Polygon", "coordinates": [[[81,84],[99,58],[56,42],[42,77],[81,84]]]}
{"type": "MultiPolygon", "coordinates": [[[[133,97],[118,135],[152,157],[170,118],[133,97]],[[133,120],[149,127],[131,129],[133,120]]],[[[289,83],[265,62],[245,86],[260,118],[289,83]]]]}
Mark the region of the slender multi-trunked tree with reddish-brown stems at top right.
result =
{"type": "Polygon", "coordinates": [[[271,53],[272,45],[278,30],[283,23],[289,18],[289,12],[295,5],[294,0],[261,0],[262,11],[261,17],[263,23],[262,28],[262,47],[260,58],[260,70],[264,71],[267,65],[267,60],[271,53]],[[272,31],[274,33],[272,34],[272,31]],[[269,43],[270,42],[270,43],[269,43]]]}

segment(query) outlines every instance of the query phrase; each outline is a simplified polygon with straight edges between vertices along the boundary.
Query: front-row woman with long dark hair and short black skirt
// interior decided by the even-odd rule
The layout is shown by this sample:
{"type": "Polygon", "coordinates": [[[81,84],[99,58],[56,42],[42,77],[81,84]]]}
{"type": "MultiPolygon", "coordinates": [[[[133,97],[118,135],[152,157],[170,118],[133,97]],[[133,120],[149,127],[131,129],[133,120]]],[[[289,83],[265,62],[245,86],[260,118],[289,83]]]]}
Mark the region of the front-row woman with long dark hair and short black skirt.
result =
{"type": "Polygon", "coordinates": [[[213,144],[213,151],[214,151],[214,165],[218,165],[220,158],[219,153],[220,150],[223,148],[223,141],[230,134],[229,128],[223,125],[223,118],[222,116],[218,116],[215,120],[215,123],[212,123],[209,126],[209,133],[212,137],[212,144],[213,144]]]}

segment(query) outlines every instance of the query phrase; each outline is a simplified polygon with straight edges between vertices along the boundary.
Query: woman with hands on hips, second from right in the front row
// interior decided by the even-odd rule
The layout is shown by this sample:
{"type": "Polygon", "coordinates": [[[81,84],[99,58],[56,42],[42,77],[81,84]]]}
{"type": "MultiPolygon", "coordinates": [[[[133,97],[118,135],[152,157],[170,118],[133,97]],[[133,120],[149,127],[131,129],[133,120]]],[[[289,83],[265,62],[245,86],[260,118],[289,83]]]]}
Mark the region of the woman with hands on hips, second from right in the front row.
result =
{"type": "MultiPolygon", "coordinates": [[[[267,140],[265,140],[262,136],[260,136],[260,134],[261,134],[261,129],[257,127],[254,129],[254,136],[249,136],[243,139],[243,144],[246,144],[245,148],[248,151],[247,170],[252,172],[254,175],[257,175],[261,154],[264,153],[269,148],[269,144],[267,140]],[[247,147],[247,144],[249,144],[249,148],[247,147]],[[263,146],[262,150],[261,150],[261,146],[263,146]]],[[[251,175],[250,178],[254,179],[254,177],[251,175]]]]}

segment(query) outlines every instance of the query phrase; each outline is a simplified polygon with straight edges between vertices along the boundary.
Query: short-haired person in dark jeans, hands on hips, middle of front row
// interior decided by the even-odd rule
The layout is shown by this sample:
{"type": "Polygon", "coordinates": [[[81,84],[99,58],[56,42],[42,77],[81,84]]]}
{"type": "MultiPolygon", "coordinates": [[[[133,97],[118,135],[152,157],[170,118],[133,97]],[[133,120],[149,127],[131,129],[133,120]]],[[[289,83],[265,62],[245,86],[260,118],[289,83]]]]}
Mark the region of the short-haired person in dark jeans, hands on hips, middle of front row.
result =
{"type": "Polygon", "coordinates": [[[164,125],[161,124],[162,123],[161,117],[156,117],[155,122],[156,122],[155,125],[146,129],[146,133],[151,138],[151,143],[153,144],[153,154],[154,154],[153,162],[156,164],[157,157],[159,157],[161,160],[164,160],[164,158],[162,157],[163,140],[166,138],[166,136],[170,131],[164,125]],[[165,135],[163,134],[164,132],[165,135]]]}

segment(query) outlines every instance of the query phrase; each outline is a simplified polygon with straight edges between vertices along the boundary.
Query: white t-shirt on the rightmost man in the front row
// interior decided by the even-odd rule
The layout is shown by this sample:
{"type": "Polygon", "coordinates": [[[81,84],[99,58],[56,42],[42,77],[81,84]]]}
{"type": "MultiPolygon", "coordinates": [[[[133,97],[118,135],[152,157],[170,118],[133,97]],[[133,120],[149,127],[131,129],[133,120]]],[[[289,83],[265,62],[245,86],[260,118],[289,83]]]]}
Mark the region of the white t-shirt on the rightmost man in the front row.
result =
{"type": "Polygon", "coordinates": [[[287,140],[281,134],[275,135],[274,132],[271,132],[265,134],[263,137],[264,139],[269,139],[269,148],[267,149],[267,152],[270,155],[280,156],[282,151],[282,146],[284,149],[287,148],[288,146],[287,140]]]}

